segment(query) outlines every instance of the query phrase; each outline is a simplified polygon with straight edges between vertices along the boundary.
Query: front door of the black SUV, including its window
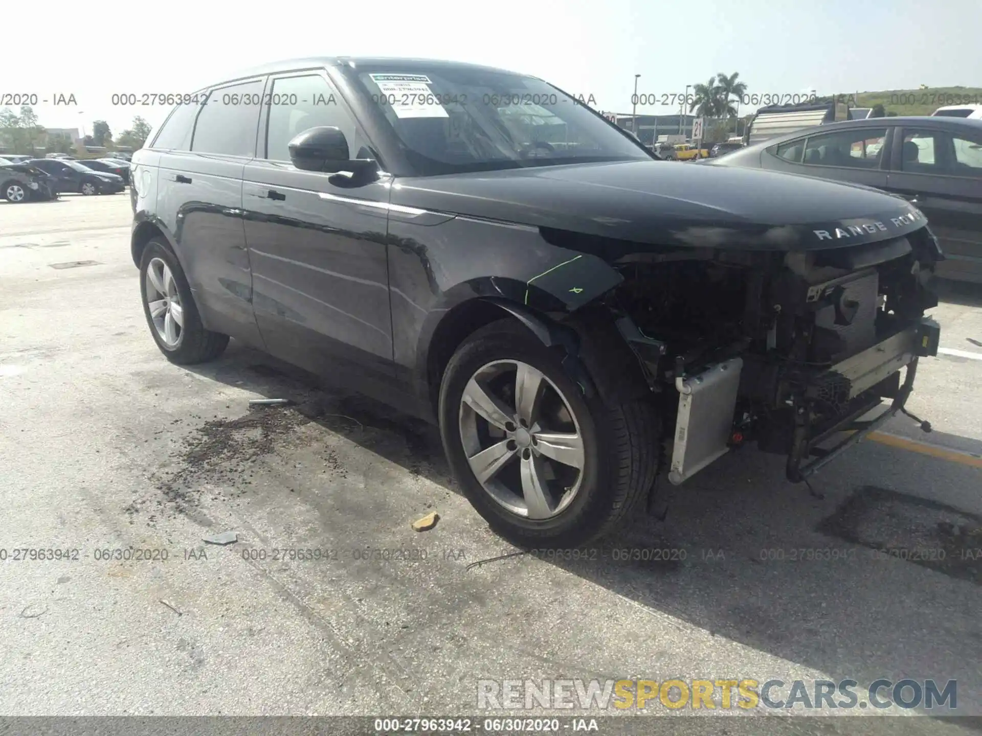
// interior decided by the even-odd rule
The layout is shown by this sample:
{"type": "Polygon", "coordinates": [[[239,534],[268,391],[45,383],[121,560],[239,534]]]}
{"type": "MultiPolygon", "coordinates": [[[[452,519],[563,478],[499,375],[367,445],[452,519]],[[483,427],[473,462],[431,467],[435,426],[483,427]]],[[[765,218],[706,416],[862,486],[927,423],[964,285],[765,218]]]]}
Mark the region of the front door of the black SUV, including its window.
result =
{"type": "Polygon", "coordinates": [[[352,158],[376,158],[323,69],[271,77],[265,98],[259,153],[244,175],[263,339],[274,355],[384,395],[393,370],[385,239],[390,180],[355,185],[291,163],[290,140],[320,126],[343,131],[352,158]]]}

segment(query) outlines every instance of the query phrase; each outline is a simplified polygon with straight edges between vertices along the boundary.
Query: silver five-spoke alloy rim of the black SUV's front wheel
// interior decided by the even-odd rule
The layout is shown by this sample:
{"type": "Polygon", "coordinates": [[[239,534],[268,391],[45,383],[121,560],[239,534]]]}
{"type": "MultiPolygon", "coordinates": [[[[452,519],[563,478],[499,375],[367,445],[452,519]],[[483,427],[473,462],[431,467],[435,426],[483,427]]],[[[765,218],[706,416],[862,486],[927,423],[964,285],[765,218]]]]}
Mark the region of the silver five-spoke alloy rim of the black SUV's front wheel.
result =
{"type": "Polygon", "coordinates": [[[544,520],[573,502],[585,451],[570,401],[537,368],[497,360],[464,387],[461,440],[484,491],[518,516],[544,520]]]}

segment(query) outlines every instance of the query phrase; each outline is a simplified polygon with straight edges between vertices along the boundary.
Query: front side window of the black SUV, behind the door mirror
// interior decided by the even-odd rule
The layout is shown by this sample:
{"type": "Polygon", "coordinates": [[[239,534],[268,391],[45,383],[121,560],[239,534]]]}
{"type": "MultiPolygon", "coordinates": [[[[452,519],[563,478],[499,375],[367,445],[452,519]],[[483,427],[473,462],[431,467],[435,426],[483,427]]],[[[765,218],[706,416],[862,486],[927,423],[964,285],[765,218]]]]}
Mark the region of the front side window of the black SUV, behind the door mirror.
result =
{"type": "Polygon", "coordinates": [[[270,161],[290,161],[290,141],[307,129],[321,126],[333,126],[345,133],[351,158],[375,158],[341,95],[322,76],[274,79],[266,102],[266,158],[270,161]]]}

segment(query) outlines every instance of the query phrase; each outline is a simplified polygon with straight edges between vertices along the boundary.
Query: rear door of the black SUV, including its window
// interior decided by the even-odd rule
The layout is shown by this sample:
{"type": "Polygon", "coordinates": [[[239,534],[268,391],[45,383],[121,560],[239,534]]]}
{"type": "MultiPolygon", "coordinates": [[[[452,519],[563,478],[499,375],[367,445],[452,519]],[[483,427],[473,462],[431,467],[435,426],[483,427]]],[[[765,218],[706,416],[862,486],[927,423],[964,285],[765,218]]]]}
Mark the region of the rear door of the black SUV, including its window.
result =
{"type": "MultiPolygon", "coordinates": [[[[156,210],[177,244],[205,327],[262,346],[252,314],[252,277],[243,227],[243,169],[255,155],[264,77],[212,88],[203,104],[175,111],[193,118],[191,137],[161,131],[156,210]]],[[[170,121],[168,121],[168,126],[170,121]]]]}

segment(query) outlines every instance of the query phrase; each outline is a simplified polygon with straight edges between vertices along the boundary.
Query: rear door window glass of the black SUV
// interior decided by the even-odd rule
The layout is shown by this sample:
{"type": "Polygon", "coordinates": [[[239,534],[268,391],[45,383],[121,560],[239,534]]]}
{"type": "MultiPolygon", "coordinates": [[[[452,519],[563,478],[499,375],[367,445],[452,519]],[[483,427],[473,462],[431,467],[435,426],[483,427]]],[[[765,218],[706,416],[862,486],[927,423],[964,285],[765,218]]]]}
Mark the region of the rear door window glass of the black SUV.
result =
{"type": "Polygon", "coordinates": [[[194,126],[191,150],[226,156],[255,155],[262,80],[213,89],[194,126]]]}

